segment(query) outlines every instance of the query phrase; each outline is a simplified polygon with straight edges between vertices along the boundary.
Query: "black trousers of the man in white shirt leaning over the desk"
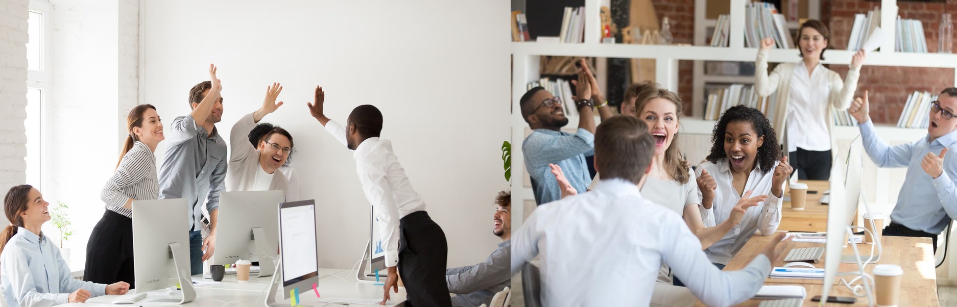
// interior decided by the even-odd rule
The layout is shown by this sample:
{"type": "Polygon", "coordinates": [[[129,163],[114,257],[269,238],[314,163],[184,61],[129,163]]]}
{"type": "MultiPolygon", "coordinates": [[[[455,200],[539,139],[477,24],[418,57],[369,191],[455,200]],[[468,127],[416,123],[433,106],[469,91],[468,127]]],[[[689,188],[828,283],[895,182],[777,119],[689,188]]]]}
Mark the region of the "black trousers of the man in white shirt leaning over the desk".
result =
{"type": "Polygon", "coordinates": [[[426,211],[399,220],[399,275],[406,285],[406,306],[452,306],[445,266],[445,232],[426,211]]]}

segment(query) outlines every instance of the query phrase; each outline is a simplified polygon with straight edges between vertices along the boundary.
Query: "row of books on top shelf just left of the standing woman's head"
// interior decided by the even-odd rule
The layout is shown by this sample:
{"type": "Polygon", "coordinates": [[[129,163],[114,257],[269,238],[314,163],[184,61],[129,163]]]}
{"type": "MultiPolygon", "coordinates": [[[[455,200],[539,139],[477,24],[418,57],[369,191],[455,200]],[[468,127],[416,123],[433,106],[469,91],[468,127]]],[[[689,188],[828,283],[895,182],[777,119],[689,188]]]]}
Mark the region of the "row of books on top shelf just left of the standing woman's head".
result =
{"type": "Polygon", "coordinates": [[[794,48],[784,15],[778,13],[773,4],[752,2],[745,10],[745,47],[760,47],[761,40],[767,37],[774,38],[775,48],[794,48]]]}

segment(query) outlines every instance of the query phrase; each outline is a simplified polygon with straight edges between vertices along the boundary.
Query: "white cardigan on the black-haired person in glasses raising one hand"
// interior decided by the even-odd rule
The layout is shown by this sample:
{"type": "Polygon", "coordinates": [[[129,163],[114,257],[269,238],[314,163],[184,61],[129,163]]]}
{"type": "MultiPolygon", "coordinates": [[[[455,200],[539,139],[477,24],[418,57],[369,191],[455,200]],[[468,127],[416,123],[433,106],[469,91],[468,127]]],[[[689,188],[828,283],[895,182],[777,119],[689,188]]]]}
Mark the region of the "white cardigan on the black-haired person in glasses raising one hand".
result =
{"type": "MultiPolygon", "coordinates": [[[[249,143],[249,132],[256,127],[253,113],[244,116],[233,125],[230,131],[230,167],[226,171],[226,190],[247,191],[256,185],[256,171],[259,166],[259,150],[249,143]]],[[[282,172],[273,172],[273,182],[269,190],[281,190],[286,195],[289,180],[282,172]]]]}

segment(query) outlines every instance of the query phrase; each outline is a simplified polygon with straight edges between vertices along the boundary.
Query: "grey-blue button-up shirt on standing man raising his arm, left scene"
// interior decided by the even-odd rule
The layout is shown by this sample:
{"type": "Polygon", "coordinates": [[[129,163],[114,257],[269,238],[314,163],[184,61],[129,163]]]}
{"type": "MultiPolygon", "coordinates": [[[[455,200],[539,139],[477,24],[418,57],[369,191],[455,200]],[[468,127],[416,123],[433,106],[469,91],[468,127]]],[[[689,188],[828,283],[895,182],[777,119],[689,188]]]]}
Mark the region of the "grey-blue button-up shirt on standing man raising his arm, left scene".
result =
{"type": "Polygon", "coordinates": [[[202,207],[219,208],[219,192],[226,179],[226,141],[216,128],[212,136],[192,116],[178,117],[167,130],[167,153],[160,166],[160,199],[185,198],[189,203],[189,230],[200,230],[202,207]]]}

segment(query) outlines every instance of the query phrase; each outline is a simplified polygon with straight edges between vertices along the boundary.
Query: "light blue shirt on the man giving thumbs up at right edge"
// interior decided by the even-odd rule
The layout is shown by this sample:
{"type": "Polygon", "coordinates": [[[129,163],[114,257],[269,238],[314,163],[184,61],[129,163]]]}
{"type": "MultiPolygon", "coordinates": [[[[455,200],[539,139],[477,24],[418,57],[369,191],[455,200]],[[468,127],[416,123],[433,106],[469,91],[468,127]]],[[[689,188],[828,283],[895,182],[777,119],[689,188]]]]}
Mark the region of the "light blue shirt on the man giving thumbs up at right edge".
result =
{"type": "Polygon", "coordinates": [[[951,218],[957,218],[957,157],[944,158],[944,172],[930,177],[921,167],[927,153],[940,155],[944,147],[953,152],[957,149],[957,131],[950,132],[933,142],[926,136],[914,143],[889,146],[880,140],[874,130],[874,122],[860,124],[860,137],[864,150],[879,167],[907,166],[897,205],[891,211],[891,220],[911,230],[941,233],[951,218]]]}

